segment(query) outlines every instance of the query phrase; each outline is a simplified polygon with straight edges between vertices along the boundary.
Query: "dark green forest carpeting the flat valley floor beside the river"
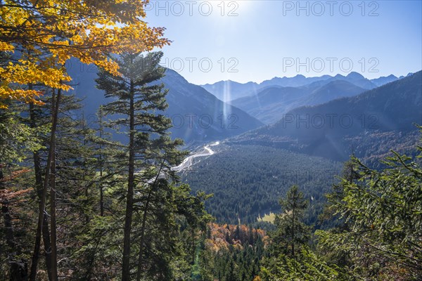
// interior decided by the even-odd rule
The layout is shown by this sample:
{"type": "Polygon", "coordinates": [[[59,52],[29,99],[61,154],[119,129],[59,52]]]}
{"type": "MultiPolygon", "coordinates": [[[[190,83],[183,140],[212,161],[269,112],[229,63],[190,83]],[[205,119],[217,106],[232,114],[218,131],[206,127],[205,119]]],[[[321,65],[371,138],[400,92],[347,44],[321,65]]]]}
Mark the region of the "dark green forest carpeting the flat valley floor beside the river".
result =
{"type": "Polygon", "coordinates": [[[260,145],[219,145],[217,154],[200,159],[181,173],[193,191],[212,193],[207,210],[222,223],[255,223],[258,217],[281,211],[279,198],[300,185],[311,203],[305,221],[317,223],[342,165],[321,157],[260,145]],[[250,161],[253,159],[253,161],[250,161]]]}

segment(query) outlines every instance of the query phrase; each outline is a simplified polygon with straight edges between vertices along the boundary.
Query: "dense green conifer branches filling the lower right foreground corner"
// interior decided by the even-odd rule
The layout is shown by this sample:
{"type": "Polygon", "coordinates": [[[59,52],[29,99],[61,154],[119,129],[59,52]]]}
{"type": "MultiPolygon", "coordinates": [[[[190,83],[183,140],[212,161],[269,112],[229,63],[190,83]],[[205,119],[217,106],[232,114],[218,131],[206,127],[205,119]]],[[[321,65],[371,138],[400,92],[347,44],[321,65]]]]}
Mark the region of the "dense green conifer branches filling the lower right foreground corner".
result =
{"type": "MultiPolygon", "coordinates": [[[[419,156],[422,148],[418,146],[419,156]]],[[[419,280],[422,277],[422,169],[418,159],[392,152],[377,171],[356,157],[354,173],[341,178],[341,192],[328,196],[340,226],[317,230],[332,259],[350,276],[368,280],[419,280]],[[341,231],[339,231],[339,229],[341,231]],[[351,264],[350,264],[351,263],[351,264]]]]}

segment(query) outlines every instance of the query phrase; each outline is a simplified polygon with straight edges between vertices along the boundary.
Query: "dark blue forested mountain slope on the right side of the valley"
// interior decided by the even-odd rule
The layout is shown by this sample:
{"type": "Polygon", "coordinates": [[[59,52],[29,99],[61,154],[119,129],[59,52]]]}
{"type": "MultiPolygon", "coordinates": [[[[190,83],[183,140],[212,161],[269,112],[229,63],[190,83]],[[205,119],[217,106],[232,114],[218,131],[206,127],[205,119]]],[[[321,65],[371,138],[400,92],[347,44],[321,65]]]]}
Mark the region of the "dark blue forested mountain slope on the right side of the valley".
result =
{"type": "Polygon", "coordinates": [[[422,72],[349,98],[298,107],[273,125],[233,138],[344,160],[352,152],[369,161],[389,150],[410,153],[422,124],[422,72]]]}

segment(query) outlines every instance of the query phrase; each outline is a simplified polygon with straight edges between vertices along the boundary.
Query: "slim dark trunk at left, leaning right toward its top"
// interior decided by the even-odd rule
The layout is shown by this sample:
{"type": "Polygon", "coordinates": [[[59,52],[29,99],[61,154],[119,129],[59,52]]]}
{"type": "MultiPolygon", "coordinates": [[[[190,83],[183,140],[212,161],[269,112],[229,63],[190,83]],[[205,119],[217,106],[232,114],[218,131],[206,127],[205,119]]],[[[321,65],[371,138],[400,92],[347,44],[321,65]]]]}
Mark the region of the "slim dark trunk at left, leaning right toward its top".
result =
{"type": "MultiPolygon", "coordinates": [[[[50,144],[53,143],[54,136],[56,136],[57,119],[58,119],[58,105],[60,105],[60,97],[61,97],[61,90],[59,89],[58,93],[57,93],[57,99],[56,99],[56,105],[54,107],[54,112],[51,112],[52,113],[52,124],[51,124],[50,144]]],[[[38,266],[38,261],[39,261],[39,248],[41,246],[41,232],[43,231],[43,227],[44,227],[46,197],[47,197],[47,190],[48,190],[48,187],[49,187],[51,160],[53,159],[53,153],[54,153],[53,145],[50,145],[49,156],[47,157],[47,165],[46,165],[46,174],[45,174],[45,177],[44,177],[44,185],[43,185],[43,188],[41,190],[41,198],[40,198],[40,203],[39,203],[37,233],[35,234],[34,253],[32,255],[30,281],[35,281],[35,278],[37,277],[37,266],[38,266]]],[[[48,230],[48,228],[47,228],[47,230],[48,230]]],[[[47,264],[49,264],[49,263],[47,263],[47,264]]]]}

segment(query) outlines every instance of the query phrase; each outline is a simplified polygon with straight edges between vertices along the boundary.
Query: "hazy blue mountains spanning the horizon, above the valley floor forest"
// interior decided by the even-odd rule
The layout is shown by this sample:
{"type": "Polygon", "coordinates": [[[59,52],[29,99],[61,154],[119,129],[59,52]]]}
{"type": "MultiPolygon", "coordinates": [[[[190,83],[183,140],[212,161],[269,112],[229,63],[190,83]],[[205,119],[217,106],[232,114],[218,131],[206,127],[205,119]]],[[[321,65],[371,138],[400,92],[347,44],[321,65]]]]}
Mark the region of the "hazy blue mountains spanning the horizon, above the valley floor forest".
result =
{"type": "MultiPolygon", "coordinates": [[[[84,98],[84,116],[94,123],[96,110],[108,102],[96,89],[96,70],[73,62],[69,73],[72,93],[84,98]]],[[[165,74],[161,82],[169,89],[165,114],[172,118],[172,137],[186,143],[229,138],[236,144],[267,145],[344,160],[352,152],[378,157],[389,148],[407,151],[418,138],[412,123],[422,124],[421,72],[372,81],[356,72],[319,80],[296,77],[297,83],[311,83],[266,86],[257,95],[230,104],[173,70],[165,74]],[[376,87],[383,83],[387,84],[376,87]],[[328,126],[332,121],[336,123],[328,126]]]]}

